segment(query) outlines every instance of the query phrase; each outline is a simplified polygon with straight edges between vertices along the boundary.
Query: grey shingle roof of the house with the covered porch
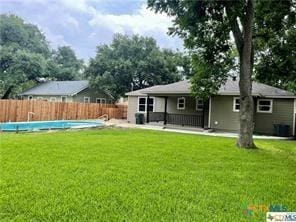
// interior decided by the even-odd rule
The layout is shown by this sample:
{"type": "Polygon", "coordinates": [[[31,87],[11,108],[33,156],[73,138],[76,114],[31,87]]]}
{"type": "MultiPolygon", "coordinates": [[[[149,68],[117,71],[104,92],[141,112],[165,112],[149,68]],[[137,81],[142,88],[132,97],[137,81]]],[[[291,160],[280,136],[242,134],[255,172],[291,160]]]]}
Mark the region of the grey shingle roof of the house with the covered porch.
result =
{"type": "MultiPolygon", "coordinates": [[[[239,95],[239,81],[228,79],[224,85],[218,90],[218,95],[239,95]]],[[[145,94],[190,94],[190,81],[183,80],[180,82],[168,84],[168,85],[158,85],[149,87],[146,89],[141,89],[133,92],[129,92],[128,96],[140,96],[145,94]]],[[[252,85],[252,95],[253,96],[263,96],[263,97],[285,97],[285,98],[296,98],[296,96],[289,91],[282,90],[273,86],[258,83],[253,81],[252,85]]]]}

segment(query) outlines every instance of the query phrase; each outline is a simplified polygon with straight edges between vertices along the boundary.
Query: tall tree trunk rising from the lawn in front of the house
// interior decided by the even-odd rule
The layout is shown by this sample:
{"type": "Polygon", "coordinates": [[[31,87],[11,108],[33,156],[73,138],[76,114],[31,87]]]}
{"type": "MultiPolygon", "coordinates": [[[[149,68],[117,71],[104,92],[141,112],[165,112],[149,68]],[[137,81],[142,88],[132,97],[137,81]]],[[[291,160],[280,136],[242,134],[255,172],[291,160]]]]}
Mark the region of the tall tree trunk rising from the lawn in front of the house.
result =
{"type": "Polygon", "coordinates": [[[246,17],[243,24],[243,45],[240,52],[240,129],[237,141],[238,147],[254,148],[253,129],[254,129],[254,102],[252,97],[252,72],[253,72],[253,19],[254,19],[254,0],[248,0],[246,17]]]}

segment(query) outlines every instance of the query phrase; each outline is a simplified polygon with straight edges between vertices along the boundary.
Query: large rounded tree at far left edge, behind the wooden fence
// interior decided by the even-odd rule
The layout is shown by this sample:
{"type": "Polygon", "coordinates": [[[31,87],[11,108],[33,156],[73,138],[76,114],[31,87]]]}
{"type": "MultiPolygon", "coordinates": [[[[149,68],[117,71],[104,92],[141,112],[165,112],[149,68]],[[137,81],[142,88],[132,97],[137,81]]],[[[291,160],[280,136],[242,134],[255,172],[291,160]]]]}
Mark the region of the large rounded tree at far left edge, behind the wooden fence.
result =
{"type": "Polygon", "coordinates": [[[39,29],[14,15],[0,15],[0,84],[8,98],[26,81],[44,75],[50,49],[39,29]]]}

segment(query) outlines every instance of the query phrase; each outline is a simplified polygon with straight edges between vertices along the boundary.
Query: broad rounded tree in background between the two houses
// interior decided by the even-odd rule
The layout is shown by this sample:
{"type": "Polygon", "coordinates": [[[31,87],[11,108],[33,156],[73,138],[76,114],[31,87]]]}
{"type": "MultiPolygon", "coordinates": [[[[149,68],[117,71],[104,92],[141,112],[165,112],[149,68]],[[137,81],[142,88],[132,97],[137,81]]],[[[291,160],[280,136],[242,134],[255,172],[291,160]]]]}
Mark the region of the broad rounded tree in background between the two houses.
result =
{"type": "Polygon", "coordinates": [[[94,88],[118,98],[131,90],[175,82],[186,71],[182,54],[160,49],[153,38],[116,34],[110,45],[98,46],[85,74],[94,88]]]}

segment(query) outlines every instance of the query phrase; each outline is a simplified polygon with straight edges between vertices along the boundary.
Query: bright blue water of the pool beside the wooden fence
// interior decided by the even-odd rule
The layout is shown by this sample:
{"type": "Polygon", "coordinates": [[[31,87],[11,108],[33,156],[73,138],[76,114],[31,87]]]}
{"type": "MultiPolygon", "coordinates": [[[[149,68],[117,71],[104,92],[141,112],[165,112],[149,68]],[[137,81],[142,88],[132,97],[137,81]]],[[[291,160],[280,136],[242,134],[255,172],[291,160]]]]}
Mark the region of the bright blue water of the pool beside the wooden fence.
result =
{"type": "Polygon", "coordinates": [[[90,127],[103,126],[101,121],[32,121],[32,122],[10,122],[1,123],[1,131],[35,131],[35,130],[51,130],[51,129],[81,129],[90,127]]]}

